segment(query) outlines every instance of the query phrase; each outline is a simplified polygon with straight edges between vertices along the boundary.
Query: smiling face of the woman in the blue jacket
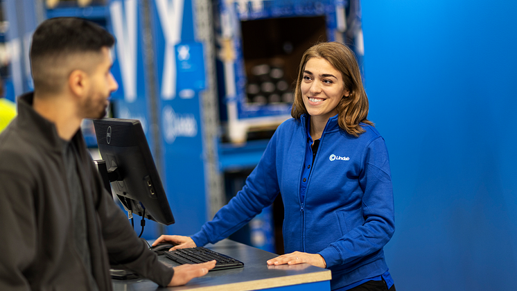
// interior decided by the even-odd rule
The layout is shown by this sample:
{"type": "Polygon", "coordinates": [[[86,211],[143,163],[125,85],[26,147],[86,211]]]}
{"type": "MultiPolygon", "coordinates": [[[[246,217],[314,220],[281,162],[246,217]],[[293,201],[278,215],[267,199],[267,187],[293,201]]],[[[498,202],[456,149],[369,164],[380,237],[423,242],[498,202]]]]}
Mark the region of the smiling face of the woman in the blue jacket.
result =
{"type": "Polygon", "coordinates": [[[344,88],[340,71],[323,58],[310,58],[301,80],[301,96],[311,117],[331,118],[338,114],[337,106],[343,96],[349,96],[344,88]]]}

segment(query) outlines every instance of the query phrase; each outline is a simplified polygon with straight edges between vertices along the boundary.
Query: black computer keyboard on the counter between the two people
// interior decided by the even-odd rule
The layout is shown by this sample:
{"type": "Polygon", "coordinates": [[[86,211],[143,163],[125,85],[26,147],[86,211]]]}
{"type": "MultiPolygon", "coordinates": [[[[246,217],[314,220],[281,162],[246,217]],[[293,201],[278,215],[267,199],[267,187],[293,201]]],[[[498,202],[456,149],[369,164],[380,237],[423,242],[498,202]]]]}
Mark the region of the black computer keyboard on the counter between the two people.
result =
{"type": "Polygon", "coordinates": [[[187,249],[176,249],[175,251],[164,252],[167,258],[180,264],[198,264],[216,260],[216,267],[213,270],[231,269],[234,267],[244,267],[244,263],[237,261],[225,254],[213,252],[205,247],[191,247],[187,249]]]}

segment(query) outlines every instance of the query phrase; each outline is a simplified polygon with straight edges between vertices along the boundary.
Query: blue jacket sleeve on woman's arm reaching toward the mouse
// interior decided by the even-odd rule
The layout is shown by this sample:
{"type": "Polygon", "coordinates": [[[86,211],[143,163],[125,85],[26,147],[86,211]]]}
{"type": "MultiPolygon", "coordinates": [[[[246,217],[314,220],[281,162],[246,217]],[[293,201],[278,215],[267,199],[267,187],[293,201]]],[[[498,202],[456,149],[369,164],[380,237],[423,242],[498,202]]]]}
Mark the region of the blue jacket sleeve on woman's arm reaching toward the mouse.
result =
{"type": "Polygon", "coordinates": [[[276,139],[277,134],[273,134],[243,189],[216,213],[213,220],[206,222],[192,236],[196,245],[200,247],[227,238],[273,203],[280,192],[275,164],[276,139]]]}

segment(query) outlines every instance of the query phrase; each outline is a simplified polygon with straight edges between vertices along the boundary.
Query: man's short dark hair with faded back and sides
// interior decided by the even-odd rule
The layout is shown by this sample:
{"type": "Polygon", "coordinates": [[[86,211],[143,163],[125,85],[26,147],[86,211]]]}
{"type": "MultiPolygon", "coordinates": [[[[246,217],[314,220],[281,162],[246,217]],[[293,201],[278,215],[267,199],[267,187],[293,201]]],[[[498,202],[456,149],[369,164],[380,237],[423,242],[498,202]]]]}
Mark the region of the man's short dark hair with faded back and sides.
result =
{"type": "Polygon", "coordinates": [[[36,28],[30,46],[35,91],[58,93],[71,71],[94,68],[94,60],[82,58],[86,62],[80,64],[69,57],[100,53],[103,47],[110,48],[114,43],[113,35],[91,21],[75,17],[46,19],[36,28]]]}

